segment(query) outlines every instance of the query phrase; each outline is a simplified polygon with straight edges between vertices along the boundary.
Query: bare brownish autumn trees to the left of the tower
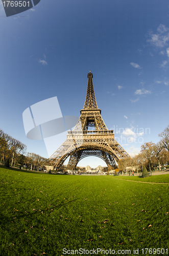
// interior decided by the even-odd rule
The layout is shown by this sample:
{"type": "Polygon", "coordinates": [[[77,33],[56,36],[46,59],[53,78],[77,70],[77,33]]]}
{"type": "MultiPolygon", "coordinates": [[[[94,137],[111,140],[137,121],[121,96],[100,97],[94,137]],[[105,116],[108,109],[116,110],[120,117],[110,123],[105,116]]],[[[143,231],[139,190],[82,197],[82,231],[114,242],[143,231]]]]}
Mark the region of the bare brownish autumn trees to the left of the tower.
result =
{"type": "Polygon", "coordinates": [[[44,164],[49,164],[47,159],[35,153],[26,153],[27,146],[12,138],[0,129],[0,159],[9,167],[23,166],[31,170],[44,169],[44,164]]]}

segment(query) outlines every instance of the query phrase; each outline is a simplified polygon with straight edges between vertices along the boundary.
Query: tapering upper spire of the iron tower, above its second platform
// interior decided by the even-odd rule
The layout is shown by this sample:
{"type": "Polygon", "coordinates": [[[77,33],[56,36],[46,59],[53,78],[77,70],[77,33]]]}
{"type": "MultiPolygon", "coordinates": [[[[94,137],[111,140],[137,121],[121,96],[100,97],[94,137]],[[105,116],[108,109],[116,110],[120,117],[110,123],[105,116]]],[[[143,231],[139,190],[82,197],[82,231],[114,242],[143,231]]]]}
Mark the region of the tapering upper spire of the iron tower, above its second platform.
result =
{"type": "Polygon", "coordinates": [[[98,105],[94,95],[94,87],[93,87],[93,80],[92,80],[93,74],[88,73],[87,77],[88,77],[87,93],[86,93],[86,99],[85,99],[83,109],[84,110],[98,109],[98,105]]]}

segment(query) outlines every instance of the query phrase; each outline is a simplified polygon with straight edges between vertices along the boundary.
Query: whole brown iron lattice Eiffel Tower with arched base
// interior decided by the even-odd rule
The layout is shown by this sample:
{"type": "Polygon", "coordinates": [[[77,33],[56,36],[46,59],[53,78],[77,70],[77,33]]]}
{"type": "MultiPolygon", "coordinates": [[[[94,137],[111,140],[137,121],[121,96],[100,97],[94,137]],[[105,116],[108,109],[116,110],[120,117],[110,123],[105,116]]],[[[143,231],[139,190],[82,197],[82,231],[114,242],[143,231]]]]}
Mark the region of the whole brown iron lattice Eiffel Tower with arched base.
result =
{"type": "Polygon", "coordinates": [[[114,139],[113,130],[108,130],[104,123],[101,110],[96,103],[93,75],[88,73],[86,100],[81,116],[73,131],[68,131],[65,142],[50,157],[54,167],[61,168],[69,157],[66,169],[74,170],[79,161],[88,156],[104,160],[108,170],[117,168],[120,159],[130,157],[122,146],[114,139]],[[93,127],[94,131],[89,131],[93,127]]]}

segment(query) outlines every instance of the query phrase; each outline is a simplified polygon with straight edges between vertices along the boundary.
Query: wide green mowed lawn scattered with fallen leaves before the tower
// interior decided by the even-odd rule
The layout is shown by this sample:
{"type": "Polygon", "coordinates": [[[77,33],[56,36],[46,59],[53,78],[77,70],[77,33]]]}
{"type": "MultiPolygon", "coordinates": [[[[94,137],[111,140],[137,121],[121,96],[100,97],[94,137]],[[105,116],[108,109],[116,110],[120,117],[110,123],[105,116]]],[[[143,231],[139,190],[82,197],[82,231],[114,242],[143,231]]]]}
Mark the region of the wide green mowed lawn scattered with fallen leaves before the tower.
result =
{"type": "Polygon", "coordinates": [[[142,255],[142,248],[169,247],[168,184],[5,168],[0,181],[0,255],[65,255],[63,248],[130,249],[130,255],[139,248],[142,255]]]}

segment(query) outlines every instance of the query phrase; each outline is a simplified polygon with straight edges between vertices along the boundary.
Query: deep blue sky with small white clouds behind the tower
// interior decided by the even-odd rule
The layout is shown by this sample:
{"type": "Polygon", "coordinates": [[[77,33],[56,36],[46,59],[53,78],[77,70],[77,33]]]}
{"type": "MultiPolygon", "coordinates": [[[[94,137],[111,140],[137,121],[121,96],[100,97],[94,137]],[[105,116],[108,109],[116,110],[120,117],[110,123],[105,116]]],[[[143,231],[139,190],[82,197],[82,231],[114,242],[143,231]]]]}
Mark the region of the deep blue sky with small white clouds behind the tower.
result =
{"type": "Polygon", "coordinates": [[[0,128],[47,157],[43,140],[27,139],[23,111],[57,96],[63,116],[80,116],[91,70],[103,120],[125,150],[158,142],[168,125],[168,18],[165,0],[41,0],[11,17],[1,3],[0,128]]]}

